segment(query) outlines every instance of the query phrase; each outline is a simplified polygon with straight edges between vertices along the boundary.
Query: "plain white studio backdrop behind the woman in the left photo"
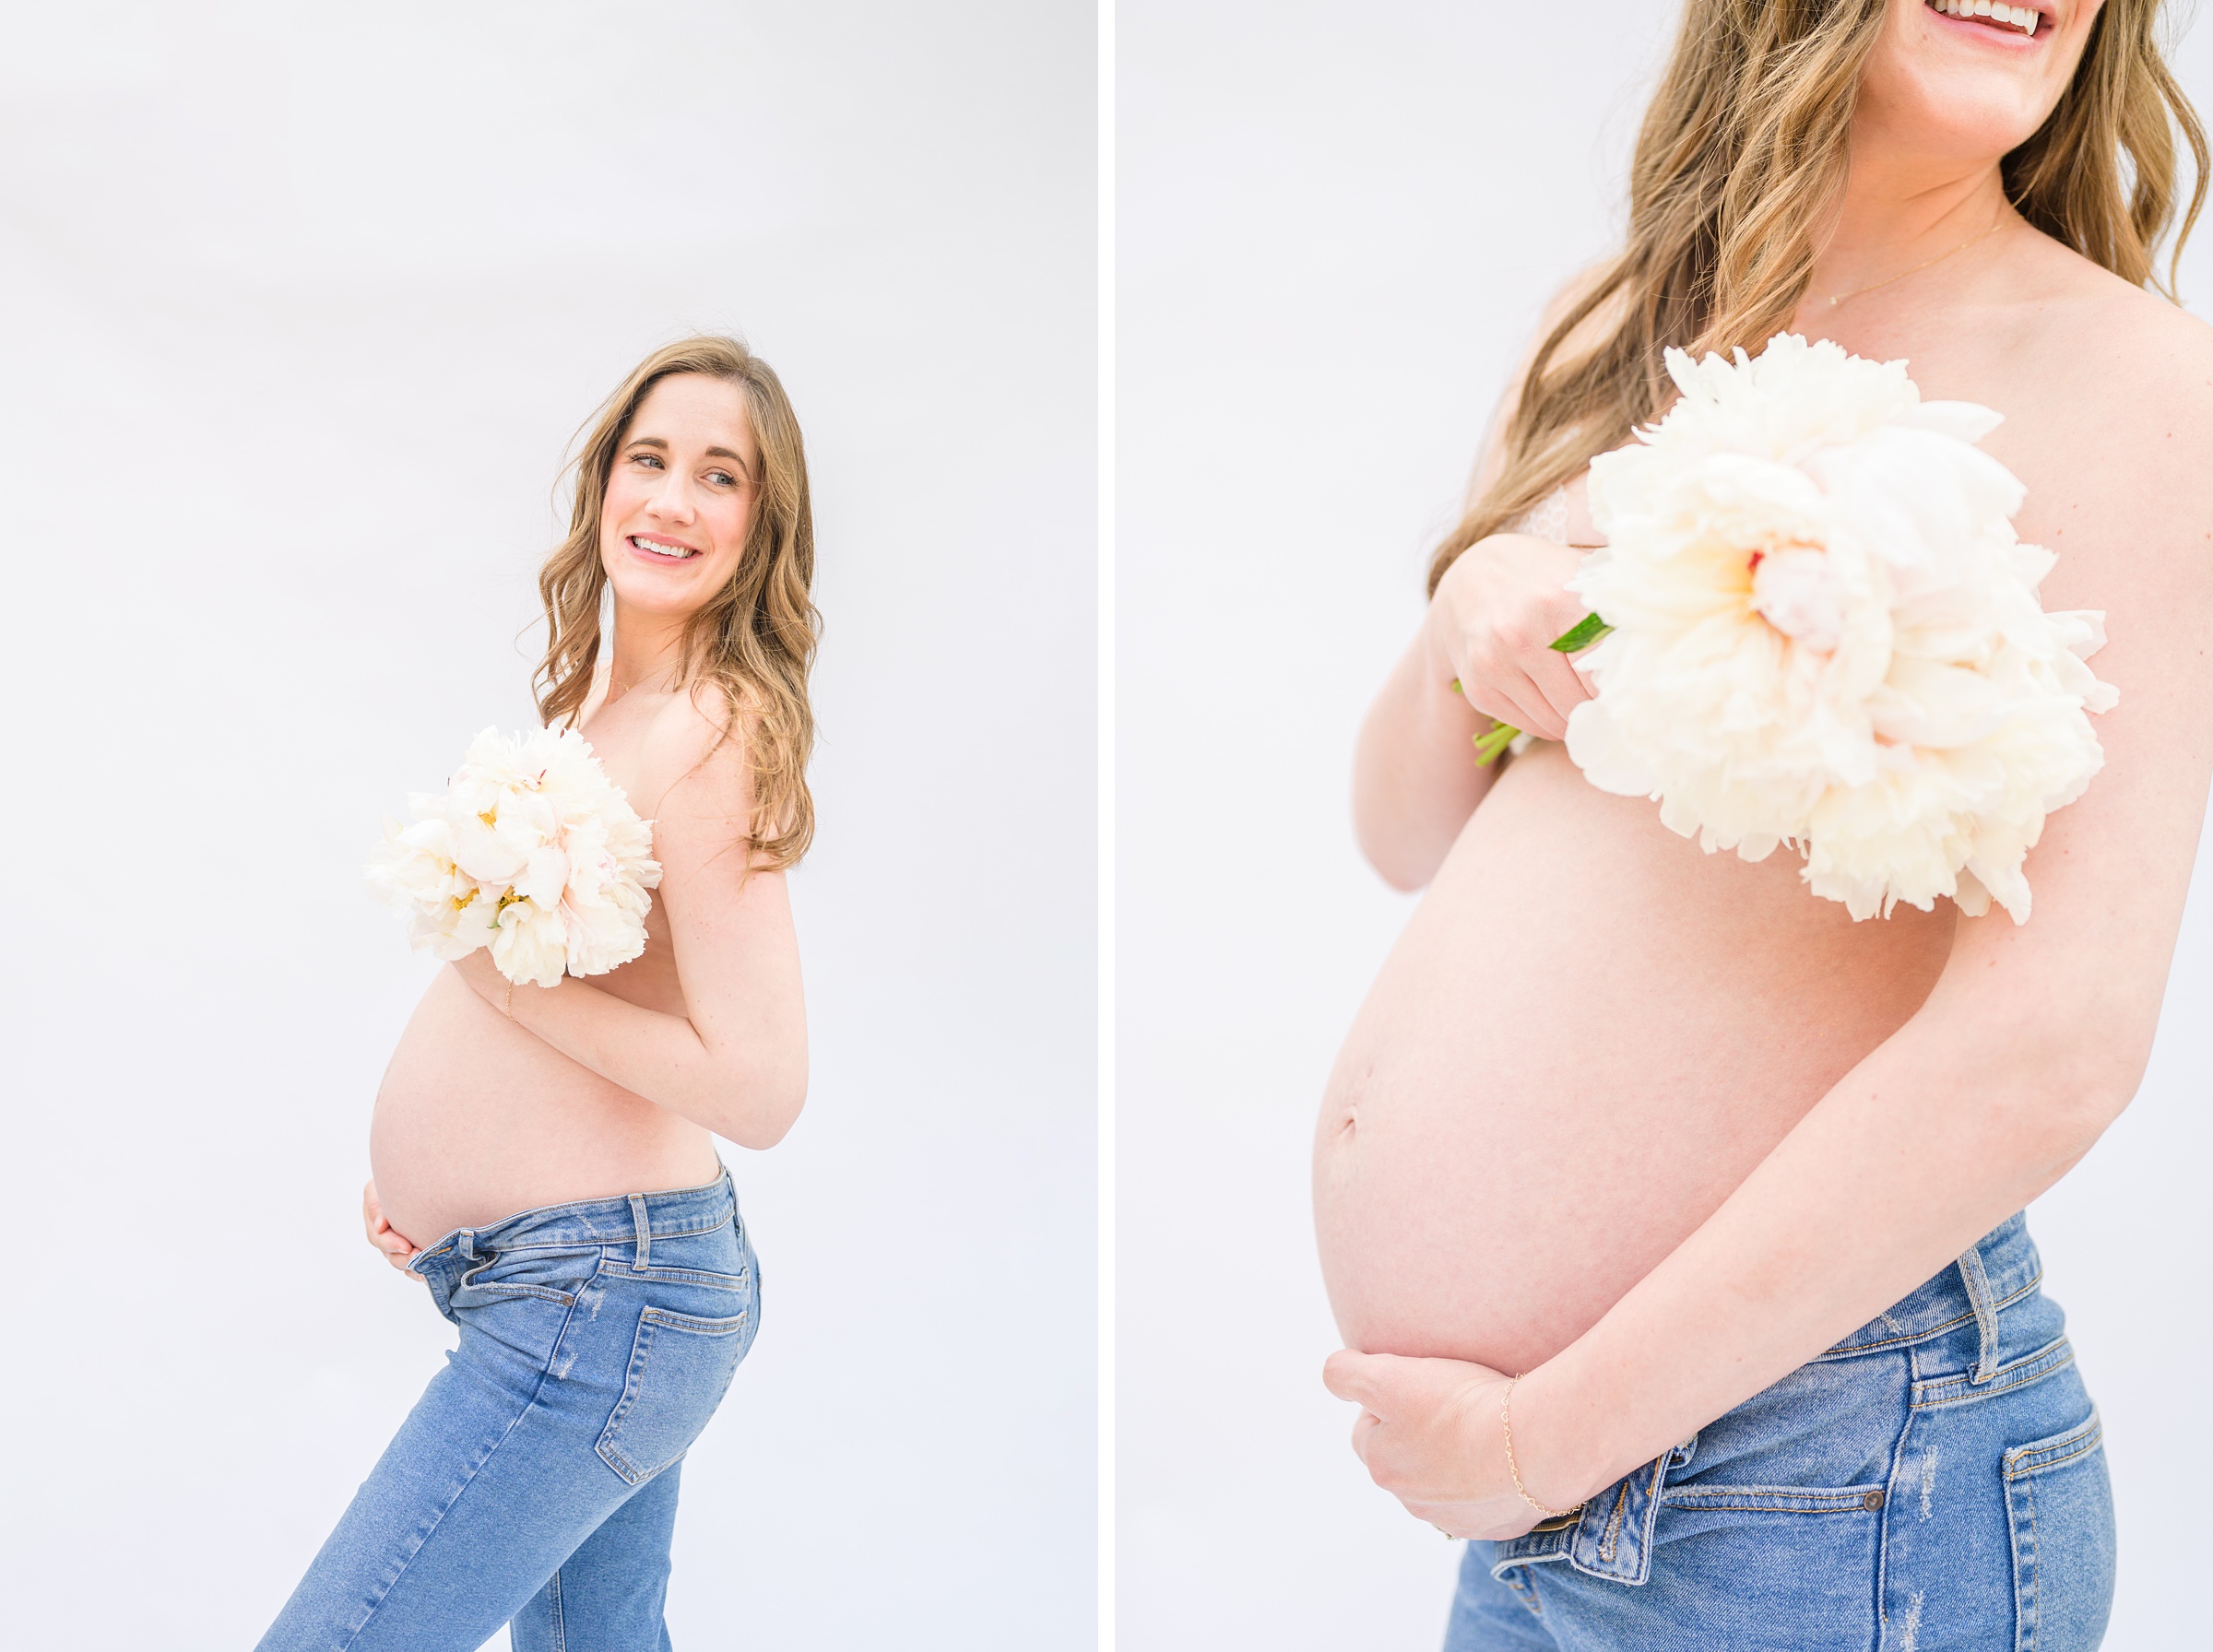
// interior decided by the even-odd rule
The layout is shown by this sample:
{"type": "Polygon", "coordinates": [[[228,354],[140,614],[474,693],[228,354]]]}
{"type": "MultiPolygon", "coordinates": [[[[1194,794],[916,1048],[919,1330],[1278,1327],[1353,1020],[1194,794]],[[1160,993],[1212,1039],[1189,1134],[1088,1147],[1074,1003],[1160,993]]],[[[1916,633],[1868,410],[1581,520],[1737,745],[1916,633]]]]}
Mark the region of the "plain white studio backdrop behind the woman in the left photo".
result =
{"type": "Polygon", "coordinates": [[[739,330],[812,460],[814,1081],[726,1148],[766,1316],[671,1628],[1089,1643],[1089,7],[7,22],[0,1641],[250,1645],[438,1369],[359,1219],[436,964],[359,867],[533,721],[578,425],[739,330]]]}

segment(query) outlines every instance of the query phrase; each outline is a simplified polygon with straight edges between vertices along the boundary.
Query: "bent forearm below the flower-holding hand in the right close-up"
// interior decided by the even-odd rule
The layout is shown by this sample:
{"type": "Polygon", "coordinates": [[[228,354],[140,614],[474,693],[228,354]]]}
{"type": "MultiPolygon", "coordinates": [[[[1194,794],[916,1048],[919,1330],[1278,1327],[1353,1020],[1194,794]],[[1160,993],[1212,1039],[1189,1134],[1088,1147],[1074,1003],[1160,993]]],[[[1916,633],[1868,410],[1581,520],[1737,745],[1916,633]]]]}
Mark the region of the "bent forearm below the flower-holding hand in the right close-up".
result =
{"type": "Polygon", "coordinates": [[[1492,787],[1496,770],[1478,767],[1474,750],[1489,721],[1452,692],[1416,635],[1368,708],[1352,756],[1352,827],[1392,887],[1430,882],[1492,787]]]}

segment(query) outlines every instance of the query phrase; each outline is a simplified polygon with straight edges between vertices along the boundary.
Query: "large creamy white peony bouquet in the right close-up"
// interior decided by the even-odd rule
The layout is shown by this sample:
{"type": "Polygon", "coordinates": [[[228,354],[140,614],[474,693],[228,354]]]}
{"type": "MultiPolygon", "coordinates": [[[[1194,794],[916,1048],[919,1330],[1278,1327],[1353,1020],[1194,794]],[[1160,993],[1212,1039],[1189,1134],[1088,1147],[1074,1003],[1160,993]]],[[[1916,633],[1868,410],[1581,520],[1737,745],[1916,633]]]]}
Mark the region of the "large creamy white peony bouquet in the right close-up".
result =
{"type": "Polygon", "coordinates": [[[1569,756],[1708,854],[1795,845],[1852,918],[1950,896],[2027,922],[2023,858],[2118,694],[2082,663],[2105,615],[2038,606],[2054,557],[1974,447],[1998,414],[1795,334],[1666,365],[1675,407],[1591,462],[1609,544],[1569,586],[1611,630],[1569,756]]]}

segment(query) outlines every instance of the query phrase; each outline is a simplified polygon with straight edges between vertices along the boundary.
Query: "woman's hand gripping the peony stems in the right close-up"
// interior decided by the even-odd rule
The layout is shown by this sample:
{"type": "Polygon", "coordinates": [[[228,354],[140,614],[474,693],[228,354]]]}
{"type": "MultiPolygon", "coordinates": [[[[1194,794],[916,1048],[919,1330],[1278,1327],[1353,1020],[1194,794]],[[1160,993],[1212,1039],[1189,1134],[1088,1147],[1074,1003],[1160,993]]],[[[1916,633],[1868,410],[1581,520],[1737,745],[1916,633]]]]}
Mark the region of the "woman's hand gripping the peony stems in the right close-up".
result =
{"type": "Polygon", "coordinates": [[[1458,679],[1467,703],[1545,741],[1567,736],[1567,714],[1591,690],[1554,639],[1589,613],[1567,588],[1582,551],[1527,533],[1476,540],[1445,568],[1423,619],[1438,683],[1458,679]]]}

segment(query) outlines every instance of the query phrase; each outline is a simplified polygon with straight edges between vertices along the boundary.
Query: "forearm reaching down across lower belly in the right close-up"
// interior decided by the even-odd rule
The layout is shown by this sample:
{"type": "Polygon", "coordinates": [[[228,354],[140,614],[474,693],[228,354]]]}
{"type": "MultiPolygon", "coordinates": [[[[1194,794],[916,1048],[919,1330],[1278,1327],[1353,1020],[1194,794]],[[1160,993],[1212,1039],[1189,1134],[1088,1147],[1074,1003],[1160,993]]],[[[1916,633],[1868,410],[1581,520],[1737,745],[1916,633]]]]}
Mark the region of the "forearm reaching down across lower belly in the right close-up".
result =
{"type": "Polygon", "coordinates": [[[2133,1081],[2069,1062],[2054,1031],[1961,1037],[1923,1011],[1861,1062],[1516,1389],[1527,1471],[1569,1502],[1600,1491],[1850,1336],[2058,1181],[2133,1081]]]}

